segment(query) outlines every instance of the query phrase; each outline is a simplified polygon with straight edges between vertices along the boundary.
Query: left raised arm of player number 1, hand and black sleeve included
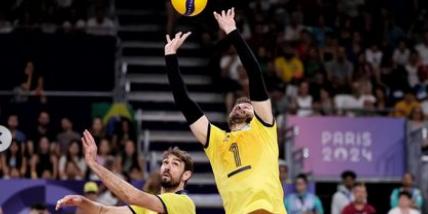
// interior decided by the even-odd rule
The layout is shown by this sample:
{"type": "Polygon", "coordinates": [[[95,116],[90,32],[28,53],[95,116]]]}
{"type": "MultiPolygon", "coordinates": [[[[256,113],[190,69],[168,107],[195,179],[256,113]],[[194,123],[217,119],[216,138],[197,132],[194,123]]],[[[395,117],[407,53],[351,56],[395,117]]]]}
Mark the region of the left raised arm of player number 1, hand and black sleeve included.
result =
{"type": "Polygon", "coordinates": [[[174,96],[175,104],[184,114],[193,135],[198,139],[202,145],[207,142],[208,127],[210,122],[208,118],[202,113],[193,100],[190,99],[187,92],[187,87],[184,84],[180,68],[178,66],[177,50],[183,45],[190,32],[183,34],[177,33],[175,38],[171,39],[169,35],[166,36],[167,44],[165,45],[165,61],[168,74],[169,84],[171,86],[172,94],[174,96]]]}

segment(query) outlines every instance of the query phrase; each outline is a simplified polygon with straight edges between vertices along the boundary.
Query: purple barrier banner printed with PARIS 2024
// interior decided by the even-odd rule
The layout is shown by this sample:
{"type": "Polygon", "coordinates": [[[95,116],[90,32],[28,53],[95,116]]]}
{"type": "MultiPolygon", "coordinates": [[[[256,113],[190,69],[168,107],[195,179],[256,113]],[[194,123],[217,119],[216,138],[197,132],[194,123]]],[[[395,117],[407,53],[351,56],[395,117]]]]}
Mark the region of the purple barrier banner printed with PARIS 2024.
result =
{"type": "Polygon", "coordinates": [[[399,179],[405,167],[405,121],[392,118],[290,117],[294,150],[317,179],[353,170],[366,179],[399,179]]]}

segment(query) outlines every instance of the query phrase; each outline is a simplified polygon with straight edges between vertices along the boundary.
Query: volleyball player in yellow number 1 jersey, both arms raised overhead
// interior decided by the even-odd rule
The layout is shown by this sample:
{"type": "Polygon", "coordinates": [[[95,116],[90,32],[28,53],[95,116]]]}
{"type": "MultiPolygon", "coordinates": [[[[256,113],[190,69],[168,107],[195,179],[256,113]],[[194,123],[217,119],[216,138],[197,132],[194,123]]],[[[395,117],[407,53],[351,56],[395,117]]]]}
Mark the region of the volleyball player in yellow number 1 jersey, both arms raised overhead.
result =
{"type": "Polygon", "coordinates": [[[250,98],[239,99],[230,112],[230,132],[212,125],[188,96],[176,52],[190,33],[178,33],[173,39],[167,35],[165,46],[168,79],[176,105],[205,147],[226,213],[285,214],[277,129],[260,66],[236,29],[234,9],[214,16],[247,71],[250,98]]]}

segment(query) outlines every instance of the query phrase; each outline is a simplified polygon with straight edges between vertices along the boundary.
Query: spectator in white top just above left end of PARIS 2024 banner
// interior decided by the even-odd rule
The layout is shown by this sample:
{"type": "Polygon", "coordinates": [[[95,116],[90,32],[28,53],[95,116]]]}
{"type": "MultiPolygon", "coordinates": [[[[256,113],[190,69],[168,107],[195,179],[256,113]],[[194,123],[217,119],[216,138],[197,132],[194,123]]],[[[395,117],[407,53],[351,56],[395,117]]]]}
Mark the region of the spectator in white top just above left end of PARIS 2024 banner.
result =
{"type": "Polygon", "coordinates": [[[311,116],[313,113],[312,104],[313,98],[309,94],[309,84],[308,82],[301,82],[299,85],[299,90],[297,97],[294,100],[295,105],[299,109],[297,111],[297,116],[307,117],[311,116]]]}

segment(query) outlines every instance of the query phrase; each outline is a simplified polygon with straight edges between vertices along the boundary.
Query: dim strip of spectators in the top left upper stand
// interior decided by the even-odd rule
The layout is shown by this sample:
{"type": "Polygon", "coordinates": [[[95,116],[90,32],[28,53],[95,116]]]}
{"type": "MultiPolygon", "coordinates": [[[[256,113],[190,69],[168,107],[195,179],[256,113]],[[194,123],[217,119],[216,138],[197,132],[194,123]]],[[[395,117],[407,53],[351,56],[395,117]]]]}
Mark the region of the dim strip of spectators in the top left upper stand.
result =
{"type": "Polygon", "coordinates": [[[111,0],[4,0],[0,33],[16,30],[115,35],[111,0]]]}

